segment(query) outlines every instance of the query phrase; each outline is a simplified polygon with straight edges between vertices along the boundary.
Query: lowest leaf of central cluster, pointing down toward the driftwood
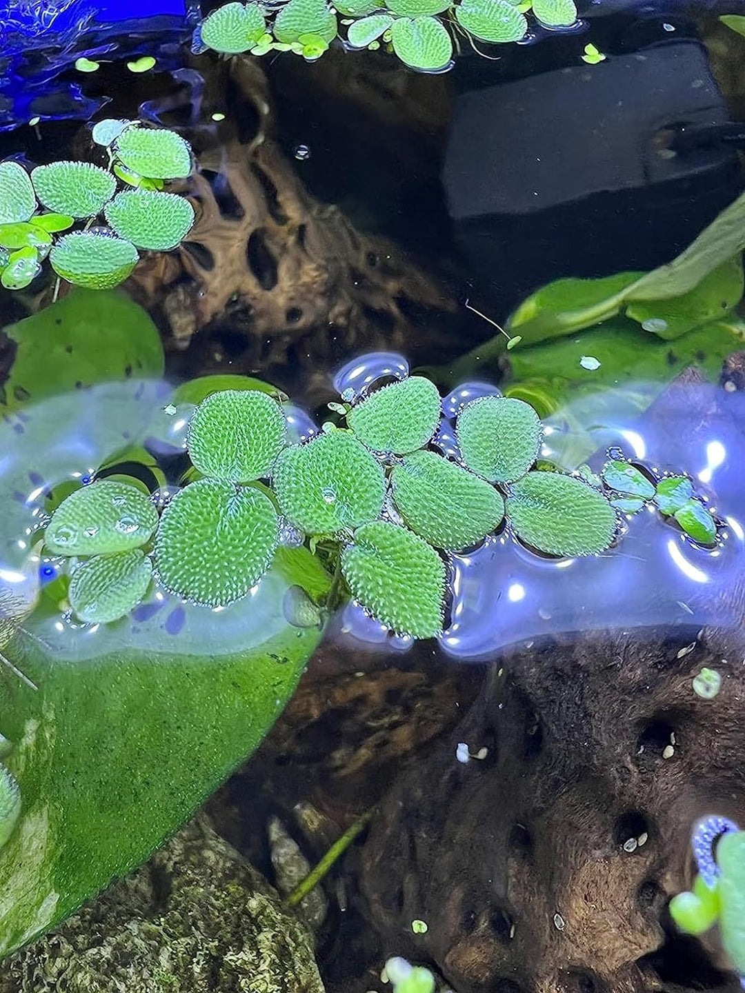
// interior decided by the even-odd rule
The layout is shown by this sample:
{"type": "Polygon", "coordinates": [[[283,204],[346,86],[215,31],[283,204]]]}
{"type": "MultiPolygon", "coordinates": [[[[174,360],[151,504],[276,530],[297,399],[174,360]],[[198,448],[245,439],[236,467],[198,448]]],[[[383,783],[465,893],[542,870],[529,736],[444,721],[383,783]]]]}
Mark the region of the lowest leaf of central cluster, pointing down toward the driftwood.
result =
{"type": "Polygon", "coordinates": [[[342,551],[342,572],[352,595],[382,624],[413,638],[442,631],[445,565],[405,527],[383,520],[359,527],[342,551]]]}

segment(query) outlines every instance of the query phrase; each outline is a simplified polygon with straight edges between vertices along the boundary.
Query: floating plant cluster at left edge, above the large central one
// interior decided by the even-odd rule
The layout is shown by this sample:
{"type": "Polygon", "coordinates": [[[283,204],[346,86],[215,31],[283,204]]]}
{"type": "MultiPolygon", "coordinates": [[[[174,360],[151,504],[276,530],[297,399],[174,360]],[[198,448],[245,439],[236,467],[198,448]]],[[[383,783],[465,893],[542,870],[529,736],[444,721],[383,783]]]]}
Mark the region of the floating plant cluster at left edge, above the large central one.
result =
{"type": "Polygon", "coordinates": [[[180,135],[138,121],[102,120],[92,138],[107,150],[108,169],[53,162],[29,174],[19,162],[0,162],[0,283],[6,289],[28,286],[47,256],[70,283],[116,286],[139,261],[139,249],[175,248],[194,223],[189,201],[163,192],[164,181],[192,169],[180,135]],[[117,192],[117,179],[128,189],[117,192]],[[105,224],[96,223],[101,216],[105,224]]]}

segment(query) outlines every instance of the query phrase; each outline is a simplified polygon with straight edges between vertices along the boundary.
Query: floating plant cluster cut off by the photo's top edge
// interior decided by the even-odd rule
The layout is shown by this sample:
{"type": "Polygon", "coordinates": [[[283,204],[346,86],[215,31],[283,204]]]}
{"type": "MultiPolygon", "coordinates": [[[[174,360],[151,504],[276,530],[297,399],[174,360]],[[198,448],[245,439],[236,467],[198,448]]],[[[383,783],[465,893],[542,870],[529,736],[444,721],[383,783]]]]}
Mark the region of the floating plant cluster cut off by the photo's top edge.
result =
{"type": "Polygon", "coordinates": [[[273,8],[228,3],[202,22],[195,47],[226,55],[294,52],[315,61],[339,36],[341,15],[348,48],[383,45],[411,69],[436,72],[450,68],[459,36],[474,48],[476,41],[521,41],[529,12],[547,28],[568,28],[577,21],[574,0],[334,0],[332,5],[288,0],[273,8]]]}

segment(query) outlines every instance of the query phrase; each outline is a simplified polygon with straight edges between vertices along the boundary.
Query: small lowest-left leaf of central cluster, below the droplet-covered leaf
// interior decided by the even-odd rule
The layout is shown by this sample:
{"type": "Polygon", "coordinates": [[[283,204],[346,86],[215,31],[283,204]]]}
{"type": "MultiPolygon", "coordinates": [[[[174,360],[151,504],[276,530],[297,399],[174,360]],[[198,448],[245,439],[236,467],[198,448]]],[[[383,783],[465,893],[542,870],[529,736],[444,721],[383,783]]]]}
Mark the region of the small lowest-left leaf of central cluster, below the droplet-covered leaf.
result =
{"type": "Polygon", "coordinates": [[[68,592],[70,605],[80,621],[118,621],[142,601],[152,575],[153,564],[139,548],[95,555],[74,570],[68,592]]]}

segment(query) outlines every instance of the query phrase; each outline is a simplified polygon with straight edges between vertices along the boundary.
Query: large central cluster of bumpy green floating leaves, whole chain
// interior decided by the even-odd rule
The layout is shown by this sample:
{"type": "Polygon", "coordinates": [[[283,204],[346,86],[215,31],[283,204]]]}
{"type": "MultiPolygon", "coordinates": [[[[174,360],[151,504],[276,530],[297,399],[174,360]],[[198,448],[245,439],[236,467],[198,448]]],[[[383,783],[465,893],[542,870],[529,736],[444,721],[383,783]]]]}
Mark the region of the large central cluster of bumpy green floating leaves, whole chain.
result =
{"type": "Polygon", "coordinates": [[[713,518],[683,477],[656,487],[618,459],[602,479],[537,468],[541,424],[522,400],[467,403],[455,427],[459,461],[436,450],[441,398],[422,376],[331,406],[346,426],[327,423],[289,444],[273,395],[213,392],[189,425],[192,482],[160,517],[125,481],[94,481],[66,497],[44,544],[72,566],[74,615],[115,621],[153,581],[190,603],[228,606],[256,588],[284,536],[326,556],[339,595],[348,591],[396,632],[432,638],[445,619],[448,554],[504,527],[544,555],[591,555],[616,537],[619,512],[654,499],[696,542],[715,541],[713,518]]]}

